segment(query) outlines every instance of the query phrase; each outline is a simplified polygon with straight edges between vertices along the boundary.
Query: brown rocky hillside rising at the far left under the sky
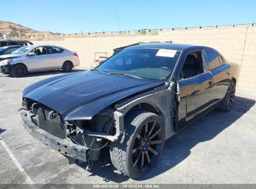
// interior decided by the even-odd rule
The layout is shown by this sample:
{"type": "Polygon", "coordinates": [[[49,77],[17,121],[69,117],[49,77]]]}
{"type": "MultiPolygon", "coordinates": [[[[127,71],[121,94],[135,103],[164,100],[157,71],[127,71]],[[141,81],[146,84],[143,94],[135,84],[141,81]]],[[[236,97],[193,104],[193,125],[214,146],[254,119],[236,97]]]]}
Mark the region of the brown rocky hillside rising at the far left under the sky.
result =
{"type": "Polygon", "coordinates": [[[40,32],[37,30],[30,29],[28,27],[24,27],[20,24],[15,24],[13,22],[5,22],[0,21],[0,33],[2,35],[9,35],[9,36],[29,36],[29,35],[55,35],[52,32],[40,32]]]}

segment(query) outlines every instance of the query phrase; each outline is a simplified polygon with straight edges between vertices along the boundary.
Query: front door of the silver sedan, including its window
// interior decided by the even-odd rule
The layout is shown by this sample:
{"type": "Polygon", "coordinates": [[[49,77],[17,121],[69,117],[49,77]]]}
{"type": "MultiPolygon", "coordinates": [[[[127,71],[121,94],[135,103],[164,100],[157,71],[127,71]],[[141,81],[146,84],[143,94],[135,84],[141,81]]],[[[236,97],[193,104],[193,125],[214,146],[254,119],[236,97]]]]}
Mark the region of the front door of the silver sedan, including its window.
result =
{"type": "Polygon", "coordinates": [[[27,56],[27,62],[29,63],[29,71],[49,70],[50,60],[49,54],[47,54],[46,47],[34,48],[33,52],[35,52],[36,55],[27,56]]]}

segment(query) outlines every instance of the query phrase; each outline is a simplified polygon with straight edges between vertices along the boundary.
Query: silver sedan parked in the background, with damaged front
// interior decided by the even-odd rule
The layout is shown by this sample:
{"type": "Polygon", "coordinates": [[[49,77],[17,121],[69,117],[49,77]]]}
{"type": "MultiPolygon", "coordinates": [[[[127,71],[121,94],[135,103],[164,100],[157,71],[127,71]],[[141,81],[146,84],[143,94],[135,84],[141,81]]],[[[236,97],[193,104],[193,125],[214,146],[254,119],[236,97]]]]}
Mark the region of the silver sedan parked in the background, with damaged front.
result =
{"type": "Polygon", "coordinates": [[[80,65],[76,52],[54,45],[28,45],[0,56],[2,73],[20,77],[28,72],[62,69],[71,71],[80,65]]]}

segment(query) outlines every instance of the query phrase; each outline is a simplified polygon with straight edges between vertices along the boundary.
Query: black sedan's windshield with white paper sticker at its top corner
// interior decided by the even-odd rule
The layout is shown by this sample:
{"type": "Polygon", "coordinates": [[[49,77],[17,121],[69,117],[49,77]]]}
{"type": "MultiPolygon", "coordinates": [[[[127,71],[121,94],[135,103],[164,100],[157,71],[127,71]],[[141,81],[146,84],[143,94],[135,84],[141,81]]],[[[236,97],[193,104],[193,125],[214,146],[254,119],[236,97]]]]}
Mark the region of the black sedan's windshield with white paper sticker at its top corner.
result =
{"type": "Polygon", "coordinates": [[[178,50],[126,48],[110,57],[95,70],[146,80],[168,80],[180,54],[178,50]]]}

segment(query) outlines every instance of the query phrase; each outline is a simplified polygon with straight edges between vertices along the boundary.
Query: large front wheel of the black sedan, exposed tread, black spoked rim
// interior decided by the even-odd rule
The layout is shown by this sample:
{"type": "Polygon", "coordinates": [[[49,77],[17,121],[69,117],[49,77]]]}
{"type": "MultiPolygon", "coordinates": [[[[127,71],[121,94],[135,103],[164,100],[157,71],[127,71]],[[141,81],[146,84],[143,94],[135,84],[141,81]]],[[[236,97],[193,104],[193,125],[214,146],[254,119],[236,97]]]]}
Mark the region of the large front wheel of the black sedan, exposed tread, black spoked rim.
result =
{"type": "Polygon", "coordinates": [[[142,177],[157,164],[163,152],[164,136],[158,115],[146,111],[126,115],[125,131],[110,144],[112,164],[130,178],[142,177]]]}

